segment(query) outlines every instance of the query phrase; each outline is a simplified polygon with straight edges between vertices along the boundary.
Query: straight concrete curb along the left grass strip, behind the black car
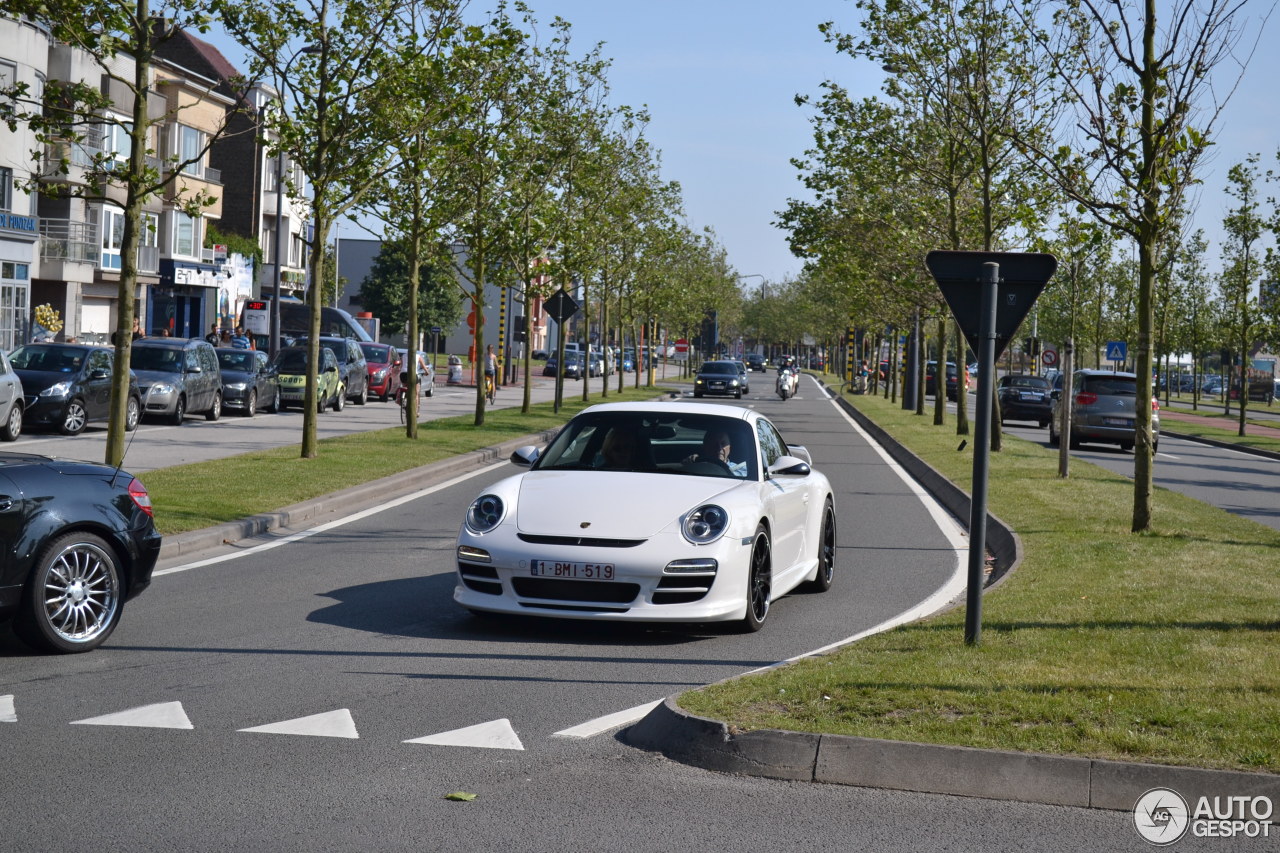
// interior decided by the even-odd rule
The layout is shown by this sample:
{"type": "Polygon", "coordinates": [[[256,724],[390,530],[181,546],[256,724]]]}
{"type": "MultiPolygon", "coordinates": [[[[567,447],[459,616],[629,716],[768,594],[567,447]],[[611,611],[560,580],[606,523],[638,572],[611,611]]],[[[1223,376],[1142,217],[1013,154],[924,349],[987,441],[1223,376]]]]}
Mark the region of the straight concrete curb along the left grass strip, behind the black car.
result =
{"type": "Polygon", "coordinates": [[[541,433],[513,438],[500,444],[483,447],[477,451],[443,459],[439,462],[392,474],[379,480],[353,485],[342,492],[321,494],[320,497],[302,501],[274,512],[261,512],[212,528],[170,534],[164,538],[164,544],[160,547],[160,560],[193,557],[211,548],[270,533],[271,530],[314,525],[326,515],[337,516],[338,514],[357,512],[388,498],[408,494],[431,483],[504,460],[517,447],[545,444],[556,437],[557,432],[559,430],[548,429],[541,433]]]}

